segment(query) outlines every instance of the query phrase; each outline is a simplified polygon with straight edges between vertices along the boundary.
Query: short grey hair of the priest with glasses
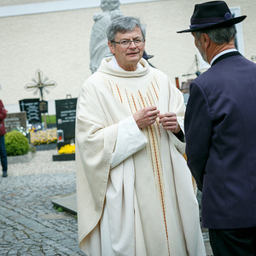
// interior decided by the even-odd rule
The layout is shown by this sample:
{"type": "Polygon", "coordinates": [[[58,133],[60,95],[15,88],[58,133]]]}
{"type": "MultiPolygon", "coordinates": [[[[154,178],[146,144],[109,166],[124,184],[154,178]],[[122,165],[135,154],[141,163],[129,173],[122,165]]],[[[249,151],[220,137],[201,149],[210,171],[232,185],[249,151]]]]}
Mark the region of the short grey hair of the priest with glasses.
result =
{"type": "Polygon", "coordinates": [[[131,32],[135,27],[139,27],[143,33],[143,38],[146,36],[146,29],[141,24],[140,20],[131,16],[122,16],[116,19],[113,19],[107,29],[107,38],[108,41],[114,41],[114,38],[118,32],[125,33],[131,32]]]}

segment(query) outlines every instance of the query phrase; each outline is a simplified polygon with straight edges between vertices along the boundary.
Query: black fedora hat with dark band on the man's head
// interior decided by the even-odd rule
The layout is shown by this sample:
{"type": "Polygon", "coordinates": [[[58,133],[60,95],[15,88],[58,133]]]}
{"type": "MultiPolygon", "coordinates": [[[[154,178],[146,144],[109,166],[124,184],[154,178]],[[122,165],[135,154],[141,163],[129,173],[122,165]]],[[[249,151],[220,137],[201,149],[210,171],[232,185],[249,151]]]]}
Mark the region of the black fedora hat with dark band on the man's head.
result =
{"type": "Polygon", "coordinates": [[[177,33],[210,30],[224,26],[232,26],[241,22],[247,16],[234,18],[224,1],[211,1],[195,4],[194,13],[190,19],[190,28],[177,33]]]}

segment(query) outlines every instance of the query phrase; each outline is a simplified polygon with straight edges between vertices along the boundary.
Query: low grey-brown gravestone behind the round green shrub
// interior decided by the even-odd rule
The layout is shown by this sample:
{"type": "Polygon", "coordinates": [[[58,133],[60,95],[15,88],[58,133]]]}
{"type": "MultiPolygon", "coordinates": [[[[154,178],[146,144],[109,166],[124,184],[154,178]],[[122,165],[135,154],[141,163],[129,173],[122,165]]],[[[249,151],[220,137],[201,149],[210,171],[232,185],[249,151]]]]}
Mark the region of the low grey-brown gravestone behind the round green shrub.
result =
{"type": "Polygon", "coordinates": [[[4,119],[5,131],[9,132],[16,127],[23,127],[26,129],[26,111],[20,113],[7,113],[4,119]]]}

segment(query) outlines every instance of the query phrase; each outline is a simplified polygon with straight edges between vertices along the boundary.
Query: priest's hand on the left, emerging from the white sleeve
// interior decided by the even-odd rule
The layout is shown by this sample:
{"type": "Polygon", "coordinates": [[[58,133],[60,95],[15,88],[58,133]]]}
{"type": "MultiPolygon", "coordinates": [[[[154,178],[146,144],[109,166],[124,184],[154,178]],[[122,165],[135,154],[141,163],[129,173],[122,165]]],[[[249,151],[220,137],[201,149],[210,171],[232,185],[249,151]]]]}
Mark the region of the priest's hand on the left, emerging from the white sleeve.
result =
{"type": "Polygon", "coordinates": [[[148,127],[148,125],[154,124],[159,113],[160,111],[155,106],[151,106],[138,110],[133,114],[133,118],[139,128],[145,128],[148,127]]]}

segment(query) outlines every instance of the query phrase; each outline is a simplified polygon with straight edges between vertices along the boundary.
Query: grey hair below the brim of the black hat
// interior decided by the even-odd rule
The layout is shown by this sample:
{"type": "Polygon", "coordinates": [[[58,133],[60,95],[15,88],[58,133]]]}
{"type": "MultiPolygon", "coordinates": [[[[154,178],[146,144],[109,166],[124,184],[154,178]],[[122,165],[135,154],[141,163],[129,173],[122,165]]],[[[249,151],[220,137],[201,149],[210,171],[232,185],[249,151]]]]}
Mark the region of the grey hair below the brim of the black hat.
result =
{"type": "Polygon", "coordinates": [[[235,38],[236,26],[226,26],[194,33],[197,39],[201,38],[202,33],[206,33],[215,44],[224,44],[230,43],[230,41],[235,38]]]}

